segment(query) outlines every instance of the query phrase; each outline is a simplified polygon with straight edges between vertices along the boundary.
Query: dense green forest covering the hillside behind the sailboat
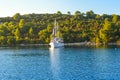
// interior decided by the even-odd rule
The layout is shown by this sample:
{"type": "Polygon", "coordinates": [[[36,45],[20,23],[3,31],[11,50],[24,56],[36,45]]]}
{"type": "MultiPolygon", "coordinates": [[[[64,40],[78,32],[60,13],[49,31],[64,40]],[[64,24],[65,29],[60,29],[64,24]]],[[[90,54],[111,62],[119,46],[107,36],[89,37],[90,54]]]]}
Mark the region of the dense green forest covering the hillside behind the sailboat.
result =
{"type": "Polygon", "coordinates": [[[65,43],[120,42],[120,15],[95,14],[92,10],[74,14],[24,14],[0,18],[0,45],[45,44],[50,42],[54,20],[65,43]]]}

